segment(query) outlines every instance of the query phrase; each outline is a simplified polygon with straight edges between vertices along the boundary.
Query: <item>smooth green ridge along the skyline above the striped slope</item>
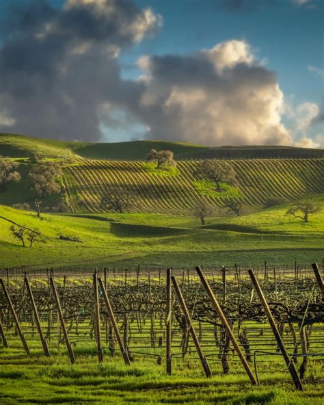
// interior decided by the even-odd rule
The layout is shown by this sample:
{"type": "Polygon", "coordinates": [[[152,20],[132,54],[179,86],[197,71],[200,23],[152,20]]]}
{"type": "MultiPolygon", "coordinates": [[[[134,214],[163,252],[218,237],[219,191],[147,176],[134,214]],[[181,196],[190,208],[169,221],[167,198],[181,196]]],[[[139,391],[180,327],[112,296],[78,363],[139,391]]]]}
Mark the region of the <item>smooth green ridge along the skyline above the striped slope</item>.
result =
{"type": "Polygon", "coordinates": [[[144,160],[150,149],[170,149],[176,159],[262,159],[324,157],[323,149],[289,146],[222,146],[211,148],[181,142],[154,140],[87,143],[32,138],[25,135],[0,133],[0,155],[30,157],[41,153],[46,157],[84,157],[87,159],[144,160]]]}

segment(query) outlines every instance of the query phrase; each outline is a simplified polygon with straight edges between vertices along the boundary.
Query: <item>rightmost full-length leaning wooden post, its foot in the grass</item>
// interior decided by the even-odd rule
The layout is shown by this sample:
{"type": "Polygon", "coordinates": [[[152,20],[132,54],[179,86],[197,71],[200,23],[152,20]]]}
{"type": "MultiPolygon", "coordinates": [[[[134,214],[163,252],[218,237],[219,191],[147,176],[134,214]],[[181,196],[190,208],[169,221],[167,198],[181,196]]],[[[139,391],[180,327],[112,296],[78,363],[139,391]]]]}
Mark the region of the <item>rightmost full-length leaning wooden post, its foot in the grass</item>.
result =
{"type": "Polygon", "coordinates": [[[275,325],[275,319],[273,318],[273,315],[271,313],[271,309],[269,307],[269,304],[267,302],[267,299],[265,298],[265,295],[258,283],[258,280],[256,279],[256,276],[254,276],[253,270],[249,270],[249,276],[252,280],[252,283],[254,285],[254,289],[258,293],[258,296],[260,298],[260,301],[262,302],[263,309],[265,310],[265,313],[267,315],[267,318],[269,320],[269,324],[273,330],[273,335],[275,335],[275,340],[278,343],[278,346],[280,348],[280,351],[282,352],[282,356],[284,357],[284,361],[286,362],[286,365],[288,367],[289,372],[291,373],[291,378],[293,378],[293,382],[295,384],[296,389],[303,390],[303,386],[301,385],[301,380],[297,374],[295,363],[293,360],[291,360],[288,356],[288,353],[286,352],[286,348],[284,347],[284,342],[282,341],[282,337],[280,336],[280,332],[275,325]]]}

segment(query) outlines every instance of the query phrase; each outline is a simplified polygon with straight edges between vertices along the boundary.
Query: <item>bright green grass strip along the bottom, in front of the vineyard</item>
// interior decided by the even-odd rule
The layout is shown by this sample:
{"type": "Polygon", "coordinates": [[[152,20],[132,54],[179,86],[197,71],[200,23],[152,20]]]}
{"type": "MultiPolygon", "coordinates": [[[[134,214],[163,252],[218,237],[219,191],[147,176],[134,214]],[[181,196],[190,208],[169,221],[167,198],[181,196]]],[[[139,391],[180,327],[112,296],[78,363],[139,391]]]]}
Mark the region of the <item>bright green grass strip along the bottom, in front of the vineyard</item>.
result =
{"type": "Polygon", "coordinates": [[[260,387],[252,387],[241,367],[224,376],[213,365],[207,379],[196,361],[175,361],[174,375],[149,356],[126,367],[120,356],[105,357],[98,365],[95,345],[78,343],[77,363],[68,363],[63,346],[45,358],[37,339],[28,338],[27,358],[17,339],[0,348],[0,402],[16,404],[323,404],[323,370],[309,361],[303,392],[295,391],[283,363],[262,369],[260,387]],[[273,368],[273,369],[272,369],[273,368]]]}

